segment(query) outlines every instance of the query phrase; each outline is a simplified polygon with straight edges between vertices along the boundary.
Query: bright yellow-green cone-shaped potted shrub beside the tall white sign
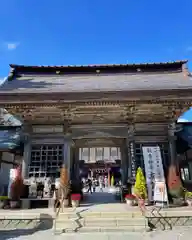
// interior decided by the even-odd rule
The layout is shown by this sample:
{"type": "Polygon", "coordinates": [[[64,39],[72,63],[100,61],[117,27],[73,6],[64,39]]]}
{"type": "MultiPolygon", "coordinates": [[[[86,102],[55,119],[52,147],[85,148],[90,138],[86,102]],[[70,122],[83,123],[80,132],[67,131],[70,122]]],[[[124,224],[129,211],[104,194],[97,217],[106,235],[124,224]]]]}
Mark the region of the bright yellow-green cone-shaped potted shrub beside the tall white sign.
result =
{"type": "Polygon", "coordinates": [[[137,169],[136,181],[134,185],[134,194],[141,199],[147,198],[146,181],[142,169],[137,169]]]}

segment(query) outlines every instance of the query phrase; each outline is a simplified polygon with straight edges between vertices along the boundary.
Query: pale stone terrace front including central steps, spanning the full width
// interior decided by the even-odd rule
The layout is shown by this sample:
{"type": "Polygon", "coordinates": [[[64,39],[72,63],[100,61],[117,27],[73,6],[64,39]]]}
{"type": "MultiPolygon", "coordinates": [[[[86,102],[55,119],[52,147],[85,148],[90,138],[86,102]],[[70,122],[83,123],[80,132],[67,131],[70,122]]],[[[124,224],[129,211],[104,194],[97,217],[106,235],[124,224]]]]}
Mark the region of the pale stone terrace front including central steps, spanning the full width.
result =
{"type": "Polygon", "coordinates": [[[138,207],[126,204],[96,204],[67,208],[55,219],[53,209],[1,210],[0,230],[53,229],[65,232],[144,232],[192,227],[192,208],[147,207],[145,217],[138,207]]]}

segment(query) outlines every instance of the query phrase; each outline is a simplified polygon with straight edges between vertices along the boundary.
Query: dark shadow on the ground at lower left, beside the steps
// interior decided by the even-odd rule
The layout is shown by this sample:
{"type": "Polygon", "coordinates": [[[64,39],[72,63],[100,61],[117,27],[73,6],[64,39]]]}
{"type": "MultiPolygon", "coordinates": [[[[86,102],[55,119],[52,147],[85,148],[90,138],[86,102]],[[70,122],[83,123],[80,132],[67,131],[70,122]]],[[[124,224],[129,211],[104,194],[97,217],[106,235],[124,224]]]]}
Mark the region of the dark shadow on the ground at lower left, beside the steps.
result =
{"type": "Polygon", "coordinates": [[[49,214],[40,214],[40,223],[32,229],[14,229],[14,230],[0,230],[0,239],[8,240],[17,237],[33,235],[39,231],[46,231],[53,227],[53,218],[49,214]]]}

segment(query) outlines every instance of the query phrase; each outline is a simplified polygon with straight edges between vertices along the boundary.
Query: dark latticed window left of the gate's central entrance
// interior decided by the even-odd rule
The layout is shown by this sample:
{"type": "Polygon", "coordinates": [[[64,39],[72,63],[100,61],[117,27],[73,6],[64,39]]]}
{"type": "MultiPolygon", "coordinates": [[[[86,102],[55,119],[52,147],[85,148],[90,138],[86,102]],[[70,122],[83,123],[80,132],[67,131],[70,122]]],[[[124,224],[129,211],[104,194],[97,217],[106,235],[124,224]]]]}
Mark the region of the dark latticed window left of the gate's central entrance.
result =
{"type": "Polygon", "coordinates": [[[58,177],[63,163],[63,145],[34,145],[29,177],[58,177]]]}

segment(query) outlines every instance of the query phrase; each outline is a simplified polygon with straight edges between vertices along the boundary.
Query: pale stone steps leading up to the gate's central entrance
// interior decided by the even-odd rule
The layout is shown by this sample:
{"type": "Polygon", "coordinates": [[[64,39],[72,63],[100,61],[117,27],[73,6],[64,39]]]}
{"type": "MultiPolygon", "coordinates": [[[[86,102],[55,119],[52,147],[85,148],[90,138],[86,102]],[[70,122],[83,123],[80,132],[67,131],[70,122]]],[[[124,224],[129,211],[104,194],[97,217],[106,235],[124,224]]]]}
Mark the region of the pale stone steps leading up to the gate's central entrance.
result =
{"type": "Polygon", "coordinates": [[[146,220],[140,211],[60,213],[55,233],[66,232],[143,232],[146,220]]]}

